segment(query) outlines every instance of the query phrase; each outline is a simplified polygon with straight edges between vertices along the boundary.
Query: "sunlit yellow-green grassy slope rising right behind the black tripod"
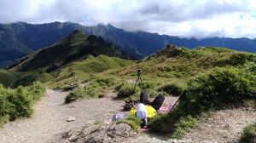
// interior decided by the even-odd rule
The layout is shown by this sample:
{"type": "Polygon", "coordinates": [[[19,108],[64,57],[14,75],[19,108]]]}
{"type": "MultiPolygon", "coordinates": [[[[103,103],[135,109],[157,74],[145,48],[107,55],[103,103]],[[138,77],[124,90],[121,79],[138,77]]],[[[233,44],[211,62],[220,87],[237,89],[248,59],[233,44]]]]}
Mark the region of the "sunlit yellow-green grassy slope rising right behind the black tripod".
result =
{"type": "Polygon", "coordinates": [[[241,66],[247,61],[256,62],[256,54],[224,48],[186,49],[169,45],[132,66],[108,74],[136,79],[136,69],[139,67],[143,70],[145,83],[179,83],[185,86],[191,77],[210,71],[214,67],[241,66]]]}

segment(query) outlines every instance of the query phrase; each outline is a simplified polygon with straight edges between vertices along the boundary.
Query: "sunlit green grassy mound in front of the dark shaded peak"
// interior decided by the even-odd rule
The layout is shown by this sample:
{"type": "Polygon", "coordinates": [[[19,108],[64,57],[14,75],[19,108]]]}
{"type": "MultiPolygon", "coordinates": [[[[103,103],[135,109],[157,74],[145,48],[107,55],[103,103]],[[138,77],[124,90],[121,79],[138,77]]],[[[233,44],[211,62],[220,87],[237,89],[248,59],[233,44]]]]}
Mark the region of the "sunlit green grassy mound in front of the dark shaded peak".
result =
{"type": "Polygon", "coordinates": [[[131,66],[133,63],[131,60],[122,60],[106,55],[96,57],[89,55],[85,60],[75,61],[60,70],[52,72],[55,78],[49,81],[48,84],[54,88],[61,89],[73,83],[85,83],[100,74],[105,77],[104,72],[131,66]]]}

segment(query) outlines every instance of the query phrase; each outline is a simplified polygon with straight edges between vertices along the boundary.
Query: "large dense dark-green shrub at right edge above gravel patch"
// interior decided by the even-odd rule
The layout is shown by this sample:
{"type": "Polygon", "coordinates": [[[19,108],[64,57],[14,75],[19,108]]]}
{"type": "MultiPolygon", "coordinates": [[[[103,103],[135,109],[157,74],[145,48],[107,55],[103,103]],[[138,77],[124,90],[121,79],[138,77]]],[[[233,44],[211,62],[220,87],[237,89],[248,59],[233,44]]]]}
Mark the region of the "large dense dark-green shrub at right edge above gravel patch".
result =
{"type": "Polygon", "coordinates": [[[252,76],[232,67],[216,68],[189,81],[187,99],[199,112],[241,104],[242,100],[253,98],[255,93],[256,78],[252,76]]]}

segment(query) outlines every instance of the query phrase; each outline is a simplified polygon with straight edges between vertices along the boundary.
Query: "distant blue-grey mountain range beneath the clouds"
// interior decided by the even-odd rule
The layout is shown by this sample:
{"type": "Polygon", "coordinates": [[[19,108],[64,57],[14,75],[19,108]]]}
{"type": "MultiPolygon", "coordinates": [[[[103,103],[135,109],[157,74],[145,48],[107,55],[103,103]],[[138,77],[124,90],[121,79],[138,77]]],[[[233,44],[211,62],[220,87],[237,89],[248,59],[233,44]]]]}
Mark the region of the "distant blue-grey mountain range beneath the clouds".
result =
{"type": "Polygon", "coordinates": [[[256,52],[256,39],[211,37],[199,40],[159,35],[145,31],[125,31],[111,25],[82,26],[71,22],[33,25],[17,22],[0,24],[0,67],[7,66],[32,51],[42,49],[67,37],[74,30],[83,31],[86,35],[101,36],[108,42],[119,46],[120,50],[132,54],[138,59],[154,54],[166,47],[167,43],[188,47],[189,49],[198,46],[215,46],[256,52]]]}

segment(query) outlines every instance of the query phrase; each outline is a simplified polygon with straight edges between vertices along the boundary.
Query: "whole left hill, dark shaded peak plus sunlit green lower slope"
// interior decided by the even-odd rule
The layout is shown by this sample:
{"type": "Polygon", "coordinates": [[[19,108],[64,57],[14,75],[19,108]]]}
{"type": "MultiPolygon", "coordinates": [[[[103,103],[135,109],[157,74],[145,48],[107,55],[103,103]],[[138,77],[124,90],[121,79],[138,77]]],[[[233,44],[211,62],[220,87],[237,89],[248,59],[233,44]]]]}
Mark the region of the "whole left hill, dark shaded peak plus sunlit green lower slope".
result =
{"type": "Polygon", "coordinates": [[[132,62],[115,57],[129,59],[129,56],[102,37],[87,37],[80,31],[73,31],[71,35],[48,48],[20,59],[9,66],[9,70],[1,70],[0,77],[4,78],[0,83],[17,87],[40,81],[49,82],[55,88],[65,87],[74,81],[77,83],[74,79],[84,81],[97,72],[120,68],[132,62]]]}

